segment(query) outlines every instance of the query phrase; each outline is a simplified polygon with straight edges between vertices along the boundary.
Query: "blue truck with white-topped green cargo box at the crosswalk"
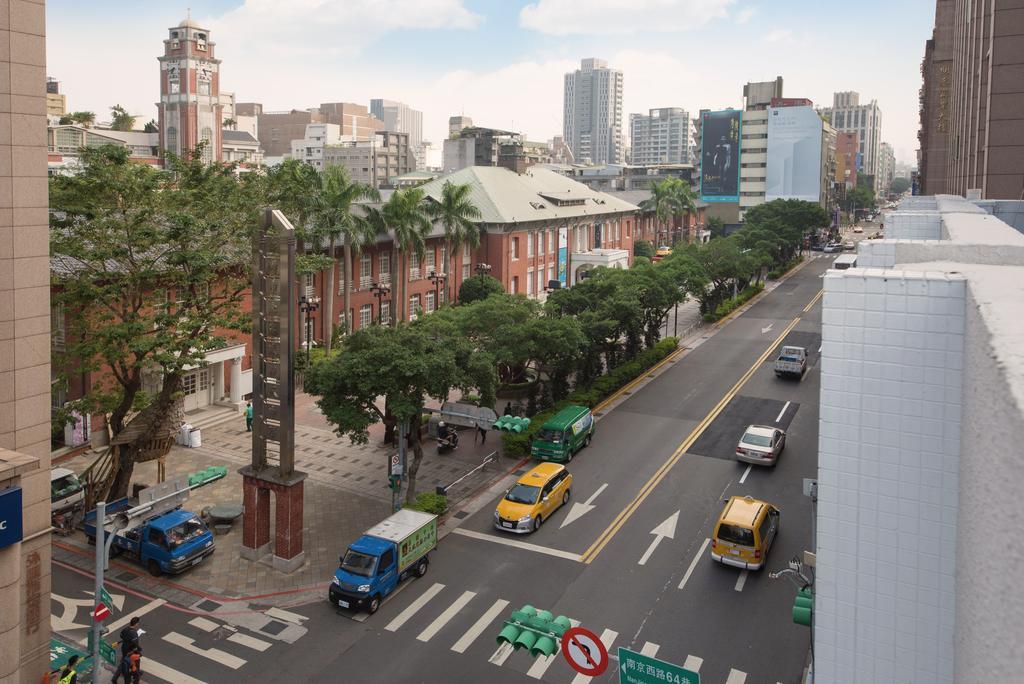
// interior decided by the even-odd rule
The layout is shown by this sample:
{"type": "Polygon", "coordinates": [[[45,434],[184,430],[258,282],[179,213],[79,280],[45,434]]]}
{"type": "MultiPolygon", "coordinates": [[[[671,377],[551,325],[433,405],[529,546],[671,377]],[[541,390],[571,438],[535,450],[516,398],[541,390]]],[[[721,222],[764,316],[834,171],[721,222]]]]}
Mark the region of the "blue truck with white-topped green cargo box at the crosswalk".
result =
{"type": "Polygon", "coordinates": [[[377,612],[410,574],[427,572],[437,546],[437,516],[403,509],[349,545],[334,571],[328,599],[339,608],[377,612]]]}

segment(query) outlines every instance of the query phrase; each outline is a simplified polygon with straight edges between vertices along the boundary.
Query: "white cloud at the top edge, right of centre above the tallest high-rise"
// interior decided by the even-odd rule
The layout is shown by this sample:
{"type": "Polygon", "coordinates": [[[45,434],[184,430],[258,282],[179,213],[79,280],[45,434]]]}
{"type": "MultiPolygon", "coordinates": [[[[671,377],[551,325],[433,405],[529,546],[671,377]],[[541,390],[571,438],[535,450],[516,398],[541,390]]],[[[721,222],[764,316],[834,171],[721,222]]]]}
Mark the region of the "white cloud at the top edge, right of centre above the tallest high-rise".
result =
{"type": "Polygon", "coordinates": [[[552,36],[622,35],[697,29],[728,15],[734,0],[537,0],[519,26],[552,36]]]}

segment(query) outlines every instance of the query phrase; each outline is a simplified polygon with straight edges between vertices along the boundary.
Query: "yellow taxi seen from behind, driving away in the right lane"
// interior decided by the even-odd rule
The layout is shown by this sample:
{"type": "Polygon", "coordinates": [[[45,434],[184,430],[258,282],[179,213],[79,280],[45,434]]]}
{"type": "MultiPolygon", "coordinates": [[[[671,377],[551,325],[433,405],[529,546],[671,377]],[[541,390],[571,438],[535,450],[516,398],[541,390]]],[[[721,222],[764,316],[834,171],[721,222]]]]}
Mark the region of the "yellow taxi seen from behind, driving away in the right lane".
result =
{"type": "Polygon", "coordinates": [[[732,497],[722,509],[711,538],[711,557],[744,570],[764,567],[778,536],[779,510],[753,497],[732,497]]]}

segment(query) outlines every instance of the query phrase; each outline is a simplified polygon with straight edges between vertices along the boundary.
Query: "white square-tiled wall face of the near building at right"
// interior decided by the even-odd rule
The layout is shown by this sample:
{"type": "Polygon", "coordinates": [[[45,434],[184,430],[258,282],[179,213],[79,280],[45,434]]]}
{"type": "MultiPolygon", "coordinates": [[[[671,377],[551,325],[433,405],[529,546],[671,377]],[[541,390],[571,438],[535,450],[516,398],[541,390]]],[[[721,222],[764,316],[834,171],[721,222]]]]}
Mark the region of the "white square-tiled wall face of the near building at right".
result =
{"type": "Polygon", "coordinates": [[[965,281],[824,290],[815,679],[951,682],[965,281]]]}

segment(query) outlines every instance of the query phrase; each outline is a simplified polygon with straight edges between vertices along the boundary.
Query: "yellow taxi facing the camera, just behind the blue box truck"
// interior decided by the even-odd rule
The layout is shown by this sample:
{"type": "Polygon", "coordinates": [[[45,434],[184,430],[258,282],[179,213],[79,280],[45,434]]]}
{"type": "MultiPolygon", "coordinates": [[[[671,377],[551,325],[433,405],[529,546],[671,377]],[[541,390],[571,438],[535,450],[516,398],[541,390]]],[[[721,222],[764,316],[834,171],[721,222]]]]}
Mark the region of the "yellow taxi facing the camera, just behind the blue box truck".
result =
{"type": "Polygon", "coordinates": [[[542,463],[519,478],[495,510],[495,527],[524,535],[541,525],[569,501],[572,475],[565,466],[542,463]]]}

